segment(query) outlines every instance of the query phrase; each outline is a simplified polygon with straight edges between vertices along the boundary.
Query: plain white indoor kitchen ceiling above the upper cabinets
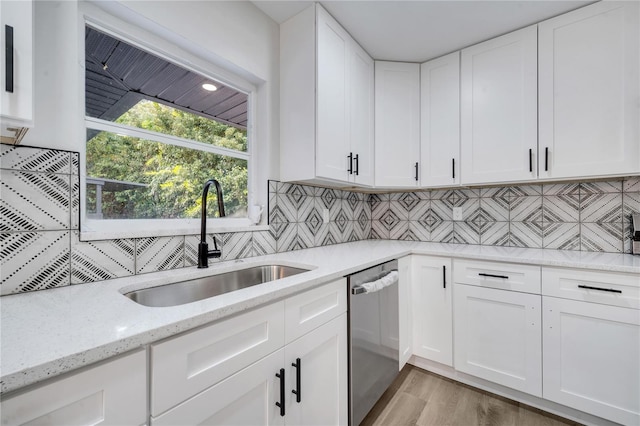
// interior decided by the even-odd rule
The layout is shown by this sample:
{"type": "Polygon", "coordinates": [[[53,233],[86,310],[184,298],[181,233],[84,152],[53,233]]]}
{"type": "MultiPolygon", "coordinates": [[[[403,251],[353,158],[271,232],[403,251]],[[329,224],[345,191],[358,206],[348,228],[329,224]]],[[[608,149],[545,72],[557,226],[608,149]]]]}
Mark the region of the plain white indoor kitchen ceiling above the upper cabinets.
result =
{"type": "MultiPolygon", "coordinates": [[[[282,23],[314,2],[255,0],[282,23]]],[[[371,1],[319,3],[377,60],[424,62],[593,1],[371,1]]]]}

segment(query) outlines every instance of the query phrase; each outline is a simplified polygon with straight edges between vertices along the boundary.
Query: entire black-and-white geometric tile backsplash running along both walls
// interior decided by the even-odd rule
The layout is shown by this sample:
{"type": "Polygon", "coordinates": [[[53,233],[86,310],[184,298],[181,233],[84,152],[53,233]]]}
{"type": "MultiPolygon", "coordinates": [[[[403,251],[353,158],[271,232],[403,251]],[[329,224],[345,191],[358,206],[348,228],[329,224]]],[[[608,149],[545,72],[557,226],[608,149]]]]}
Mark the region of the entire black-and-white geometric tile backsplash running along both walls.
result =
{"type": "MultiPolygon", "coordinates": [[[[0,144],[0,295],[197,265],[199,235],[80,241],[78,158],[0,144]]],[[[210,262],[365,239],[630,253],[630,214],[640,211],[639,177],[391,194],[269,181],[268,190],[269,230],[207,235],[222,250],[210,262]]]]}

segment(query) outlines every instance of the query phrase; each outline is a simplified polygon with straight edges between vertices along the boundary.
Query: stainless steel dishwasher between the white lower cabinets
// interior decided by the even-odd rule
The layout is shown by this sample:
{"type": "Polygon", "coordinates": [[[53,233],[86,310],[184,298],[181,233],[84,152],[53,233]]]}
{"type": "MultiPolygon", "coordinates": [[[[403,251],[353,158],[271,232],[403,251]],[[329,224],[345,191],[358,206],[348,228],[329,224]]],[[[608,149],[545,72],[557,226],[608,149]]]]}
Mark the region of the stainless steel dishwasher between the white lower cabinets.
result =
{"type": "Polygon", "coordinates": [[[347,279],[349,424],[356,426],[399,373],[398,261],[347,279]]]}

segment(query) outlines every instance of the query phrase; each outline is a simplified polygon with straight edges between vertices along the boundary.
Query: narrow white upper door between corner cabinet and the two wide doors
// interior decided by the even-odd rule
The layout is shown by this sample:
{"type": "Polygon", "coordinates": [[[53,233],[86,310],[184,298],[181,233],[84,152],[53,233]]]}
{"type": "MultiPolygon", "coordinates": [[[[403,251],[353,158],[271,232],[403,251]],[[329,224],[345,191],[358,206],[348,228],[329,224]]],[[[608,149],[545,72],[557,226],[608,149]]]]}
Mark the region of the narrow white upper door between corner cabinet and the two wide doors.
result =
{"type": "Polygon", "coordinates": [[[460,183],[460,52],[420,66],[422,186],[460,183]]]}

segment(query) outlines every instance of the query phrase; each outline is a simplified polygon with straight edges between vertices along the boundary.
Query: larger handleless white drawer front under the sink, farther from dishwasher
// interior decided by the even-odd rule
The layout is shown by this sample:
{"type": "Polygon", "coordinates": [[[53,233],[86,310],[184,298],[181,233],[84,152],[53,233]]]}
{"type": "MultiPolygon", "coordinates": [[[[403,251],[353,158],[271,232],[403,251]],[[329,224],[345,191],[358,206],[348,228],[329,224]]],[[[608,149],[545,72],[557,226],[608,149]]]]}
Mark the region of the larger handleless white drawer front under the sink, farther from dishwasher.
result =
{"type": "Polygon", "coordinates": [[[284,302],[277,302],[151,346],[151,415],[284,345],[284,302]]]}

